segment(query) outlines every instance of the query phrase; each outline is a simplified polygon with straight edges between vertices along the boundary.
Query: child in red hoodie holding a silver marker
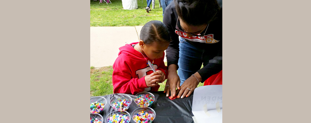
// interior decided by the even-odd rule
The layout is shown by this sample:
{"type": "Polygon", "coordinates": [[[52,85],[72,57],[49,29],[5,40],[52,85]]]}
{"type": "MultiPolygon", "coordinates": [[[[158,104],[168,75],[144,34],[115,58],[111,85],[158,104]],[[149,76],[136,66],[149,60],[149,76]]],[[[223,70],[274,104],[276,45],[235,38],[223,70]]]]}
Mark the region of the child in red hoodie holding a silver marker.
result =
{"type": "Polygon", "coordinates": [[[167,66],[163,60],[170,36],[165,24],[159,20],[149,21],[142,27],[139,37],[139,42],[119,48],[112,73],[114,93],[134,95],[150,90],[158,91],[158,83],[167,79],[167,66]],[[148,61],[156,72],[148,66],[148,61]]]}

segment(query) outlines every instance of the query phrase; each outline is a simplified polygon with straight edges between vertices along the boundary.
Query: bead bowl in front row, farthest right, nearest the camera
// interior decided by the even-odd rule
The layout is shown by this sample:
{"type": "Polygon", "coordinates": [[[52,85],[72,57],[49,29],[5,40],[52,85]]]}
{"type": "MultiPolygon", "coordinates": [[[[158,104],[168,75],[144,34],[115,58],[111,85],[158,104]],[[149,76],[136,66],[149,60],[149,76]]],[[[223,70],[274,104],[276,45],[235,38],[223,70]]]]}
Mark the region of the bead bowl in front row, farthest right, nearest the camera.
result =
{"type": "Polygon", "coordinates": [[[136,123],[152,123],[156,112],[150,107],[138,107],[132,112],[132,118],[136,123]]]}

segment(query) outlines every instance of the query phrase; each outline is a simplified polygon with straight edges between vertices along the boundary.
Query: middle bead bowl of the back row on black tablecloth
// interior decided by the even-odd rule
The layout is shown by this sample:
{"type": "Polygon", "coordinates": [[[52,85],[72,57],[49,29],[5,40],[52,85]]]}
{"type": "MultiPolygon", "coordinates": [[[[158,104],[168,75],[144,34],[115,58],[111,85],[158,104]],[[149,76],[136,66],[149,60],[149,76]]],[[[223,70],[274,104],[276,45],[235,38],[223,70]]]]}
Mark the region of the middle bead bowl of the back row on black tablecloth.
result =
{"type": "Polygon", "coordinates": [[[110,106],[115,111],[126,111],[132,103],[132,98],[126,94],[116,95],[110,99],[110,106]]]}

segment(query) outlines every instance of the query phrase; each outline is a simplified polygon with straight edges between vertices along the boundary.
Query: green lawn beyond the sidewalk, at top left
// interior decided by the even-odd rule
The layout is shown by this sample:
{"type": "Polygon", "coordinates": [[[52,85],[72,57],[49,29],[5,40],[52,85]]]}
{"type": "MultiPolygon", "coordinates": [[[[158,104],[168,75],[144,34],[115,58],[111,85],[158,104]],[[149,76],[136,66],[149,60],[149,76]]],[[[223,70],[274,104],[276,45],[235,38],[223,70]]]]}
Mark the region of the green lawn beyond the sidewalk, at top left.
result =
{"type": "Polygon", "coordinates": [[[162,8],[155,1],[155,9],[146,12],[146,0],[137,0],[138,9],[124,10],[121,0],[110,0],[111,4],[91,0],[91,26],[142,26],[151,20],[163,20],[162,8]]]}

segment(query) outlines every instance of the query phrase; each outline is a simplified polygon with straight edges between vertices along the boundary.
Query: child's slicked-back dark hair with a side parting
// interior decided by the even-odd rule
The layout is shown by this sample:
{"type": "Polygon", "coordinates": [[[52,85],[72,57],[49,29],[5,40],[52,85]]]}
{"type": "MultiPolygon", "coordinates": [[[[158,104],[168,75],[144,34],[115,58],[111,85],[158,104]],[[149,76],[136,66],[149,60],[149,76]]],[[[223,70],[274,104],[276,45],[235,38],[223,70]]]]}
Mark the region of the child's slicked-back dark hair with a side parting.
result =
{"type": "Polygon", "coordinates": [[[139,38],[144,41],[145,44],[151,44],[154,41],[170,42],[169,30],[164,23],[159,20],[151,20],[147,22],[140,30],[139,38]]]}

